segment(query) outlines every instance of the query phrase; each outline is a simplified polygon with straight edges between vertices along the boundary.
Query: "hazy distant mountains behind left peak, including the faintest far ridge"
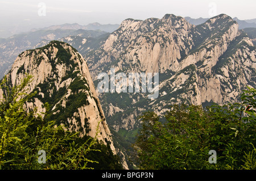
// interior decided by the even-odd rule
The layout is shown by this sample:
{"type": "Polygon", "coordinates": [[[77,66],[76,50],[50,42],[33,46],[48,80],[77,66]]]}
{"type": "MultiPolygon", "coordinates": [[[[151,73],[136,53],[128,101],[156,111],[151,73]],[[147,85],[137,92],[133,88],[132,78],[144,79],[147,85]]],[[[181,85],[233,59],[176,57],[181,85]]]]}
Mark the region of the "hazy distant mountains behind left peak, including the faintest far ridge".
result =
{"type": "Polygon", "coordinates": [[[118,27],[119,24],[90,23],[82,26],[77,23],[66,23],[32,29],[30,32],[19,33],[6,39],[0,38],[0,78],[7,73],[15,58],[24,50],[42,47],[48,44],[49,41],[59,40],[66,36],[79,36],[81,41],[88,37],[93,39],[100,35],[108,35],[108,33],[117,30],[118,27]]]}

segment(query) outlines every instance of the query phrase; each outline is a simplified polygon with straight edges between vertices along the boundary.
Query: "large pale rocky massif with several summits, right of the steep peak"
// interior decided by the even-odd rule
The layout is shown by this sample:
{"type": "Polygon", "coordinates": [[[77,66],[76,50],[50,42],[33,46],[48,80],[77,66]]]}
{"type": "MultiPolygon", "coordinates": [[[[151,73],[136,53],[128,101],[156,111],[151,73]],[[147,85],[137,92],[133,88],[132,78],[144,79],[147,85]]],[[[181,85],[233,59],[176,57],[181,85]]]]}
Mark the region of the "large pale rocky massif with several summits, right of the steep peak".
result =
{"type": "Polygon", "coordinates": [[[162,19],[124,20],[99,48],[84,54],[94,84],[100,82],[100,73],[110,74],[111,68],[127,77],[129,73],[159,73],[155,87],[159,96],[148,99],[150,92],[142,89],[100,93],[110,129],[133,142],[144,111],[163,115],[172,104],[205,107],[239,101],[242,89],[256,87],[256,52],[249,35],[238,27],[225,14],[197,26],[172,14],[162,19]]]}

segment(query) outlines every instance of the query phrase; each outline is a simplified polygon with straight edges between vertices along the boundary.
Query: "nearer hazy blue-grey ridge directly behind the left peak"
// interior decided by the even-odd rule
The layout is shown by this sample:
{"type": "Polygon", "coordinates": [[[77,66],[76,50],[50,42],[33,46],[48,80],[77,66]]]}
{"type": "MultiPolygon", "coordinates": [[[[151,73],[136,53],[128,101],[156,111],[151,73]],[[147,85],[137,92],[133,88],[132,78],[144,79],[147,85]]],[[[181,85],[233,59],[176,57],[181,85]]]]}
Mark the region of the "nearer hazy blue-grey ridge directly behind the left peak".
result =
{"type": "MultiPolygon", "coordinates": [[[[70,28],[70,27],[69,27],[70,28]]],[[[49,41],[59,40],[67,36],[76,36],[82,39],[93,39],[105,35],[104,31],[93,30],[38,30],[0,39],[0,78],[11,68],[15,58],[20,52],[47,45],[49,41]]]]}

